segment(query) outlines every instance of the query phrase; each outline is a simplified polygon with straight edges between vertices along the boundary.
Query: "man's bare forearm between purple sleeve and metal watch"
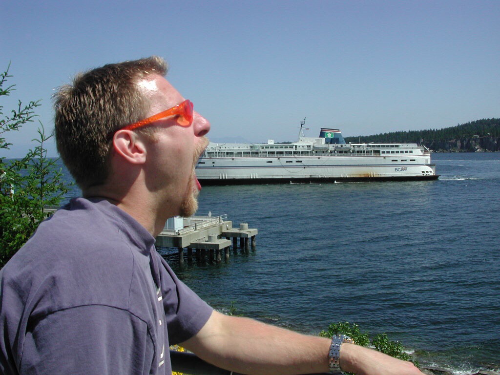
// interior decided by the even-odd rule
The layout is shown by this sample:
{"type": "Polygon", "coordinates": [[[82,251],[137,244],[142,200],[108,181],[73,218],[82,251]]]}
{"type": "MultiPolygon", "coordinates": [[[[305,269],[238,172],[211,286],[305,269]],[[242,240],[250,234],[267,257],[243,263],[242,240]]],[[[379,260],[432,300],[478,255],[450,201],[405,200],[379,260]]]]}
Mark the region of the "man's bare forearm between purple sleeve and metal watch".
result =
{"type": "Polygon", "coordinates": [[[216,366],[246,374],[327,372],[329,340],[214,312],[182,345],[216,366]]]}

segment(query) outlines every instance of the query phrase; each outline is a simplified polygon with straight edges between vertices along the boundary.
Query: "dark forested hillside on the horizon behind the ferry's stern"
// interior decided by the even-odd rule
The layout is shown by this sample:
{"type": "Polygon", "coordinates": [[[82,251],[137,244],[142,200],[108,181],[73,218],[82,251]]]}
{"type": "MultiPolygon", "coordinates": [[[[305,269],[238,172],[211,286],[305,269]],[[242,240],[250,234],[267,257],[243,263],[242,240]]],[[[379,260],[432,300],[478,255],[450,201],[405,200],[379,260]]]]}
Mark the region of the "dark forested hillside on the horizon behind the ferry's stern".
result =
{"type": "Polygon", "coordinates": [[[442,129],[393,131],[345,137],[346,142],[418,143],[435,151],[499,151],[500,118],[483,118],[442,129]]]}

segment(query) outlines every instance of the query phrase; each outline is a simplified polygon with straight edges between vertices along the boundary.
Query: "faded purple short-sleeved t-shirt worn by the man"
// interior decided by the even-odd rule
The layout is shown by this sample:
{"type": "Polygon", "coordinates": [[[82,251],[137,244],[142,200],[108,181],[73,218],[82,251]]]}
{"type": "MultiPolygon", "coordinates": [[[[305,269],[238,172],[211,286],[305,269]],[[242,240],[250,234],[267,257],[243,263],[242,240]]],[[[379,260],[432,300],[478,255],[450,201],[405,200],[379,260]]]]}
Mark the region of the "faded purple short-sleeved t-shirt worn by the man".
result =
{"type": "Polygon", "coordinates": [[[135,219],[72,199],[0,271],[0,373],[169,374],[211,312],[135,219]]]}

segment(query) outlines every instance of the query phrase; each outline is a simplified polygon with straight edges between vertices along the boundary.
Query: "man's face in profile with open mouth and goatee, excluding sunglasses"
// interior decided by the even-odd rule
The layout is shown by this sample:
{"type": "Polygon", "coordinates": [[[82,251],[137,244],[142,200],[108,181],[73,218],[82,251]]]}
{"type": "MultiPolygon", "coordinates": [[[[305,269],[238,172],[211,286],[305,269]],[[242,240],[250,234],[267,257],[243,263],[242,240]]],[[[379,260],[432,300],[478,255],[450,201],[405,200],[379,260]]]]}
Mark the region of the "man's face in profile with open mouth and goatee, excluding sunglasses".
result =
{"type": "MultiPolygon", "coordinates": [[[[162,76],[151,74],[138,82],[151,106],[147,116],[179,104],[182,95],[162,76]]],[[[194,111],[192,123],[180,126],[174,117],[156,121],[152,140],[147,149],[146,180],[149,191],[171,215],[190,216],[197,209],[197,196],[201,186],[194,167],[208,139],[204,135],[210,123],[194,111]]]]}

